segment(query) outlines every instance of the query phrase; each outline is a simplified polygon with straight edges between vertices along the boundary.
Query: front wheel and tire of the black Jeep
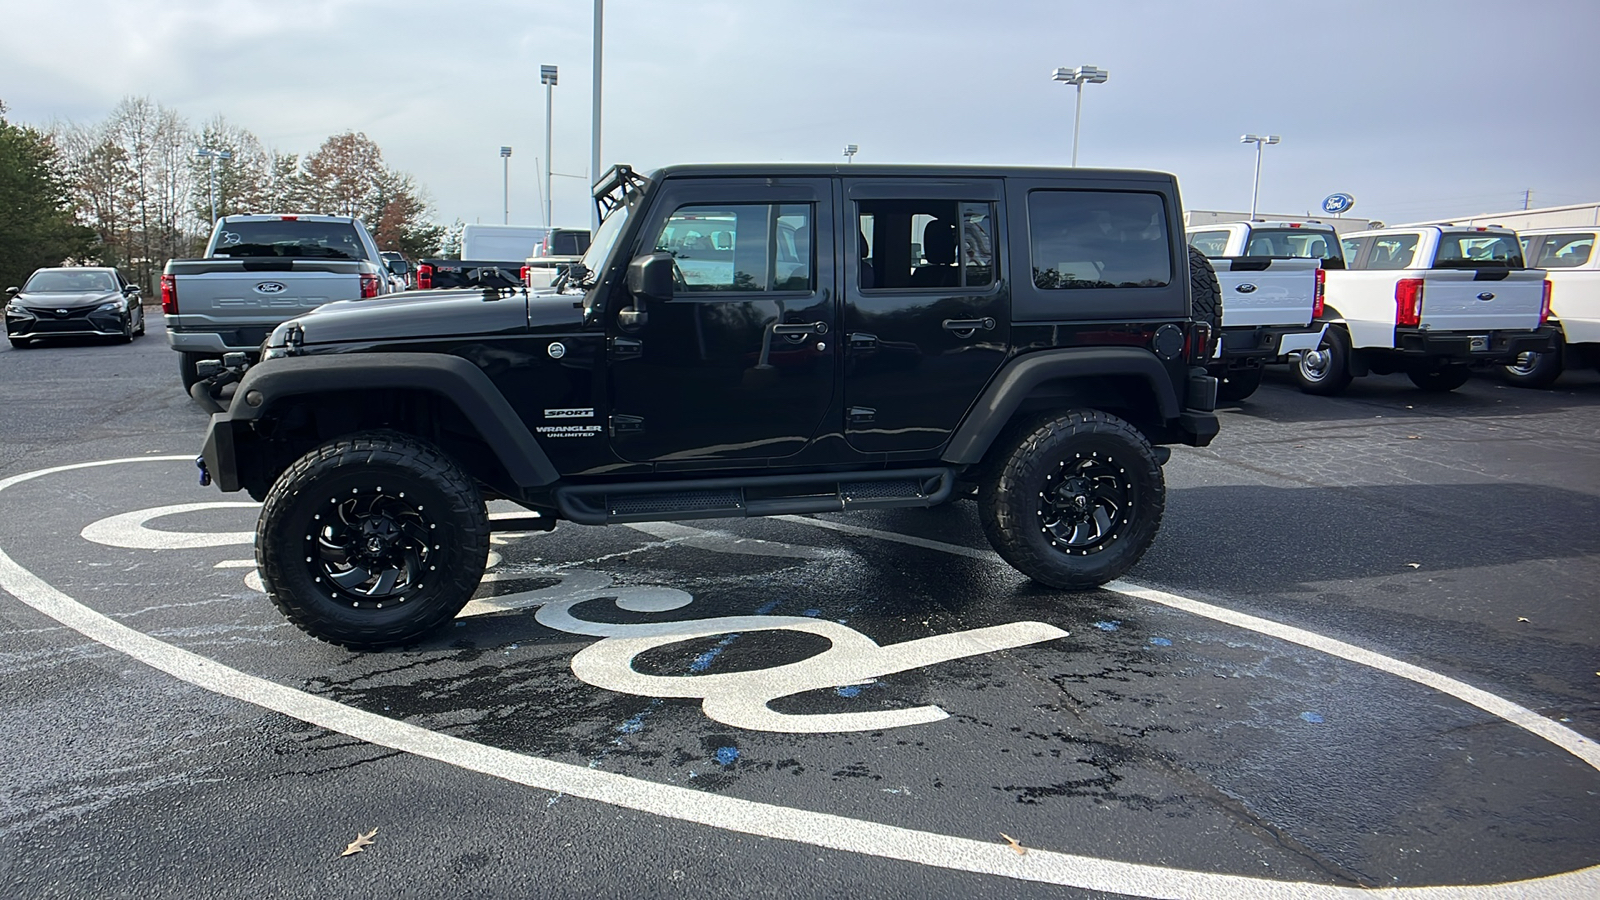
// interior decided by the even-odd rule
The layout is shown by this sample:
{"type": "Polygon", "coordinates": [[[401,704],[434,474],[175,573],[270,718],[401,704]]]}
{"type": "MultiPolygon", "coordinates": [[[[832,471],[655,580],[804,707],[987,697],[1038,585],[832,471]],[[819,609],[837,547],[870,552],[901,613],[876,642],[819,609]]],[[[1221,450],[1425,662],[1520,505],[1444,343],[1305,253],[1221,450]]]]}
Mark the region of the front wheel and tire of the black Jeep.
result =
{"type": "Polygon", "coordinates": [[[474,480],[430,444],[386,431],[296,460],[256,525],[272,602],[299,629],[350,650],[413,642],[454,618],[488,549],[474,480]]]}

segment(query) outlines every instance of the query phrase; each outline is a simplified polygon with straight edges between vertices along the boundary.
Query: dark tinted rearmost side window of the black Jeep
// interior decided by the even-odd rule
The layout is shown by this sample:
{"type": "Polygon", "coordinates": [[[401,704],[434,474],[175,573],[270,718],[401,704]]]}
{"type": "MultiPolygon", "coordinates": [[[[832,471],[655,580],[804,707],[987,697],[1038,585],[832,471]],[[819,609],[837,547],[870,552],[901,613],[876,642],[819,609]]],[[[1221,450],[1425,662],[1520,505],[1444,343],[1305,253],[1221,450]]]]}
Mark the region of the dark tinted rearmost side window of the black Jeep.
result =
{"type": "Polygon", "coordinates": [[[1034,191],[1027,195],[1034,285],[1154,288],[1173,280],[1160,194],[1034,191]]]}

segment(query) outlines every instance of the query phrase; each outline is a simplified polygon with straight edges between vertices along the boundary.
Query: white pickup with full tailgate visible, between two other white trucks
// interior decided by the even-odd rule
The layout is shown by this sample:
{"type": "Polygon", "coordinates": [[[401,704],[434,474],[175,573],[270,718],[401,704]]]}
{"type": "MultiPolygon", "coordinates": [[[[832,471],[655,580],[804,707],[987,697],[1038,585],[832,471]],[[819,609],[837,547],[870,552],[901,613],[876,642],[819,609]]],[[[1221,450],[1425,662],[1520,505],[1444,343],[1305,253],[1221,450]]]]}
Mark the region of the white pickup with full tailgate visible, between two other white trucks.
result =
{"type": "Polygon", "coordinates": [[[1293,365],[1307,394],[1395,372],[1424,391],[1454,391],[1474,364],[1504,365],[1554,346],[1544,272],[1523,266],[1510,229],[1392,227],[1341,242],[1347,271],[1328,274],[1328,330],[1293,365]]]}

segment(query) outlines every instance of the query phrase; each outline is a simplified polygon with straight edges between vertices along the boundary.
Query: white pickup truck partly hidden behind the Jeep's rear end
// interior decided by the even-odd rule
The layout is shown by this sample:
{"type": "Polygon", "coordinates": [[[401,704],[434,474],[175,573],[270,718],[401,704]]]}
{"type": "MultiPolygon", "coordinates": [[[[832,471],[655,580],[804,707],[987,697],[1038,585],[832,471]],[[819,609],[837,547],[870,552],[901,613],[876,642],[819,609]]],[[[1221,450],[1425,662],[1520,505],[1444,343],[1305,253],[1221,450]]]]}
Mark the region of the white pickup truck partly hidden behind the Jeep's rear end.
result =
{"type": "Polygon", "coordinates": [[[1222,287],[1222,340],[1208,367],[1218,397],[1243,400],[1261,367],[1322,344],[1325,269],[1342,269],[1333,227],[1320,223],[1224,223],[1189,231],[1222,287]]]}

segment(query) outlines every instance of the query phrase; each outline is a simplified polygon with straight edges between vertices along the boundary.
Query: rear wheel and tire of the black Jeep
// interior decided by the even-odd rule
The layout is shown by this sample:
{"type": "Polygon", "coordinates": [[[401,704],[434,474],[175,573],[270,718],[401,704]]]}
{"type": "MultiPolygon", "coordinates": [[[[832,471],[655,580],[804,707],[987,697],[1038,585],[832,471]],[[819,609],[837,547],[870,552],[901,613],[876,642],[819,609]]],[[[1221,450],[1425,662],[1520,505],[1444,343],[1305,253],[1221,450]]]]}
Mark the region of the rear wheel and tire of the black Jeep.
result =
{"type": "Polygon", "coordinates": [[[1166,484],[1126,421],[1072,410],[1024,429],[1003,453],[978,512],[995,552],[1029,578],[1096,588],[1133,569],[1155,540],[1166,484]]]}

